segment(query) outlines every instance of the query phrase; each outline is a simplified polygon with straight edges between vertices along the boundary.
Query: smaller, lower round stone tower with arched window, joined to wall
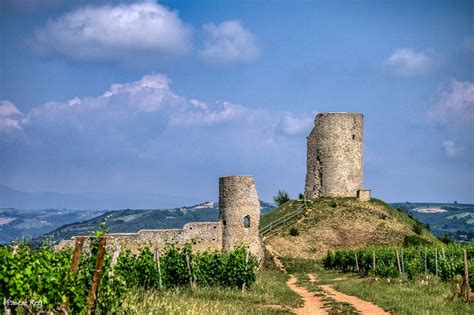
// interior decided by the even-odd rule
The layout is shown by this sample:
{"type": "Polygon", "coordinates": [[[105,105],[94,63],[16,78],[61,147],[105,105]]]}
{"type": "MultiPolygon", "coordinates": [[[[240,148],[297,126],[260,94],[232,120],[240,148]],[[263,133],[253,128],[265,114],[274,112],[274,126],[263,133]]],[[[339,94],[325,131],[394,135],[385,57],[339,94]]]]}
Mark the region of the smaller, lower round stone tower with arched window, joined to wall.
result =
{"type": "Polygon", "coordinates": [[[252,254],[263,258],[258,233],[260,200],[252,176],[219,178],[219,217],[224,252],[245,244],[252,254]]]}

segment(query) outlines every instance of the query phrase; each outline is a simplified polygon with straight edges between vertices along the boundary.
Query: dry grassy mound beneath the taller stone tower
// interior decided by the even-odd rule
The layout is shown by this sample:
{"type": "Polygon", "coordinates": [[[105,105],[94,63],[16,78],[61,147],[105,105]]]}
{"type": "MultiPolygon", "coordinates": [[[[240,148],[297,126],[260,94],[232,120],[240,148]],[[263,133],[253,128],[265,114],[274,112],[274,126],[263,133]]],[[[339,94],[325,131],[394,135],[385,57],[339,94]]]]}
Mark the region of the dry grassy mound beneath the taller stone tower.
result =
{"type": "Polygon", "coordinates": [[[439,242],[423,224],[377,199],[319,198],[306,206],[292,200],[263,215],[260,227],[300,207],[298,216],[263,237],[281,256],[319,259],[337,248],[439,242]],[[290,229],[299,235],[291,236],[290,229]]]}

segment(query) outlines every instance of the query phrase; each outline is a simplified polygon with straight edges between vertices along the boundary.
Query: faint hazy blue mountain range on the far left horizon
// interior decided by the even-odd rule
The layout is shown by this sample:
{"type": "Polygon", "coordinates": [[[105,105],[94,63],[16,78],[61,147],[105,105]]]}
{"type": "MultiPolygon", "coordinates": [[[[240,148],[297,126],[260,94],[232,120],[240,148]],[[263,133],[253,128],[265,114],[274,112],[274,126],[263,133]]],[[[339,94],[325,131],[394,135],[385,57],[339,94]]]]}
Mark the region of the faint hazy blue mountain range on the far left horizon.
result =
{"type": "Polygon", "coordinates": [[[0,185],[0,208],[16,209],[163,209],[196,204],[202,199],[159,193],[22,192],[0,185]]]}

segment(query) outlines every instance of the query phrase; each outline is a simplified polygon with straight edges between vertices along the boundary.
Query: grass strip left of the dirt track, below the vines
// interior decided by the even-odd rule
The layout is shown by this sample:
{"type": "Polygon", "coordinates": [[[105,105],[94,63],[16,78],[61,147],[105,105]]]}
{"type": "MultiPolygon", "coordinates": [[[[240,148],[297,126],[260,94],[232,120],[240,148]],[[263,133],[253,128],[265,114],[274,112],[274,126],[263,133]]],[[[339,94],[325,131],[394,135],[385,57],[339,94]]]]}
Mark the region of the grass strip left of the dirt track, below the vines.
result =
{"type": "Polygon", "coordinates": [[[278,271],[258,273],[256,283],[245,292],[228,288],[130,290],[122,307],[124,314],[291,314],[302,305],[300,297],[286,286],[287,276],[278,271]]]}

